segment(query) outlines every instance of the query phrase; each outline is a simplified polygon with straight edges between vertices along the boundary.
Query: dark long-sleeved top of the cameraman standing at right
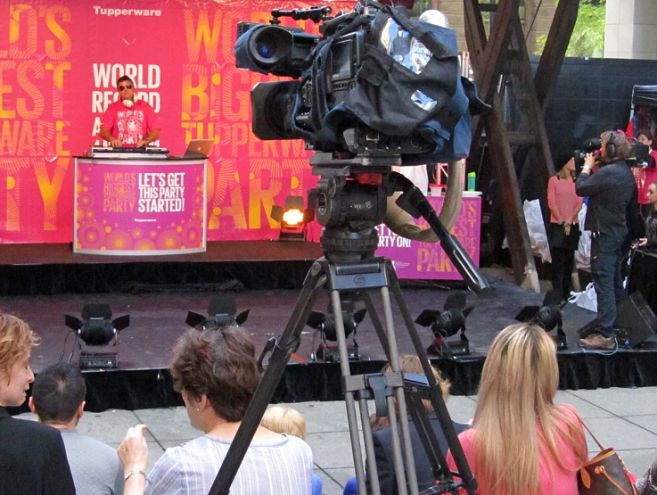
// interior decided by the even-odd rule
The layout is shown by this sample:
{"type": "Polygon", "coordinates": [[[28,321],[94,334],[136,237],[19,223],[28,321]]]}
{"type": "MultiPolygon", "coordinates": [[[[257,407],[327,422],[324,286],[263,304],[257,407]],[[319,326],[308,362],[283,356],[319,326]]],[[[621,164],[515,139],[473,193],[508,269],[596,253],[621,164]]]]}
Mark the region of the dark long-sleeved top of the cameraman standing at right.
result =
{"type": "MultiPolygon", "coordinates": [[[[628,235],[628,205],[637,204],[634,176],[625,161],[604,165],[595,174],[579,174],[575,183],[578,196],[588,198],[584,229],[624,239],[628,235]]],[[[634,233],[633,233],[634,235],[634,233]]]]}

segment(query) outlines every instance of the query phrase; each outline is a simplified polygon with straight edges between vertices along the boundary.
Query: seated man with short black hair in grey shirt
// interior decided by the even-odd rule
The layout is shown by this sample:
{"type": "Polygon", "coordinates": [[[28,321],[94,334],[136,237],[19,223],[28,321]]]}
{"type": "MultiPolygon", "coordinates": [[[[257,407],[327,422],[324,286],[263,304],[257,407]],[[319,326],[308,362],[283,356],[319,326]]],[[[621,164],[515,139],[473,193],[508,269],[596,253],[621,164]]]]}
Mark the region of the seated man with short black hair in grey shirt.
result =
{"type": "Polygon", "coordinates": [[[70,472],[78,493],[123,493],[123,466],[116,450],[76,429],[84,414],[85,378],[70,363],[46,367],[32,386],[29,408],[39,421],[62,433],[70,472]]]}

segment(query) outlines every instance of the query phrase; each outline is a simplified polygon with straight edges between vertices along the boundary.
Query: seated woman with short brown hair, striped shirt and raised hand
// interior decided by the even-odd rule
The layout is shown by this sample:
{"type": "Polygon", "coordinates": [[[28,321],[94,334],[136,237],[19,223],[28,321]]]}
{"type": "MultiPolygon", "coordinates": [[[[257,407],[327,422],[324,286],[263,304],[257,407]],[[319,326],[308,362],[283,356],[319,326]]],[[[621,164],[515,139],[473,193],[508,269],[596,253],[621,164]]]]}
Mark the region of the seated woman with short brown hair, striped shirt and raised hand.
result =
{"type": "MultiPolygon", "coordinates": [[[[259,383],[255,347],[243,328],[189,330],[173,354],[174,384],[190,423],[205,435],[167,449],[146,478],[146,425],[130,428],[119,445],[127,495],[206,495],[259,383]]],[[[313,455],[305,441],[259,426],[231,495],[309,495],[312,474],[313,455]]]]}

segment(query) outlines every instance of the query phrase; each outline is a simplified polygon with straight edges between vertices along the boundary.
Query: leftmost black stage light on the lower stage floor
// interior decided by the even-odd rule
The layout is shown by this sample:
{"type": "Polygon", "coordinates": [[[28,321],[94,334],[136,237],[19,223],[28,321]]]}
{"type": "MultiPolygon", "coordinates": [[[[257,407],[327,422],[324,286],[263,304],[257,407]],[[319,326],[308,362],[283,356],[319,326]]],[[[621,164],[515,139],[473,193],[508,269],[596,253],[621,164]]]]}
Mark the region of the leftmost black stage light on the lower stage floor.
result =
{"type": "Polygon", "coordinates": [[[85,304],[82,319],[64,315],[64,324],[78,336],[79,367],[119,367],[119,332],[130,325],[130,315],[111,319],[109,304],[85,304]],[[110,346],[109,351],[87,351],[90,347],[110,346]]]}

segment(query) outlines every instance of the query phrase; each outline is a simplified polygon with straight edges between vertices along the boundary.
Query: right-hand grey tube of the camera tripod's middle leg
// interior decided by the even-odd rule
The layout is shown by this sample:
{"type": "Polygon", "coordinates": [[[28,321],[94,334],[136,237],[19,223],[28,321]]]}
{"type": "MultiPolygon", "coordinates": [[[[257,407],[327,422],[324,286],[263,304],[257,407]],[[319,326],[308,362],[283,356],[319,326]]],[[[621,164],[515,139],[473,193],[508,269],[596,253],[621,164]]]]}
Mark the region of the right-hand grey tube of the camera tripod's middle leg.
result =
{"type": "MultiPolygon", "coordinates": [[[[397,350],[397,339],[395,338],[394,326],[392,324],[392,307],[390,305],[390,291],[388,290],[388,287],[381,288],[381,298],[383,303],[383,314],[385,316],[385,328],[386,335],[388,337],[388,347],[390,351],[390,369],[393,372],[400,371],[399,353],[397,350]]],[[[416,495],[417,477],[415,474],[415,458],[413,456],[413,446],[411,445],[411,433],[408,426],[408,413],[403,387],[398,387],[395,389],[395,398],[397,399],[397,405],[399,408],[399,425],[401,426],[401,437],[404,443],[404,454],[407,463],[408,487],[411,491],[411,494],[416,495]]],[[[390,398],[390,403],[392,403],[392,398],[390,398]]],[[[392,408],[390,408],[389,404],[390,433],[392,433],[393,442],[395,441],[395,433],[397,432],[397,428],[393,425],[393,418],[395,417],[394,410],[394,403],[392,403],[392,408]]],[[[400,455],[401,450],[398,449],[398,452],[400,455]]],[[[401,478],[399,474],[400,473],[397,471],[398,483],[400,482],[401,478]]]]}

